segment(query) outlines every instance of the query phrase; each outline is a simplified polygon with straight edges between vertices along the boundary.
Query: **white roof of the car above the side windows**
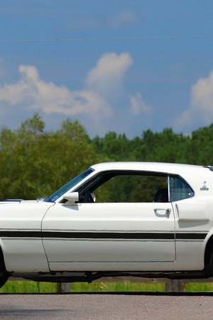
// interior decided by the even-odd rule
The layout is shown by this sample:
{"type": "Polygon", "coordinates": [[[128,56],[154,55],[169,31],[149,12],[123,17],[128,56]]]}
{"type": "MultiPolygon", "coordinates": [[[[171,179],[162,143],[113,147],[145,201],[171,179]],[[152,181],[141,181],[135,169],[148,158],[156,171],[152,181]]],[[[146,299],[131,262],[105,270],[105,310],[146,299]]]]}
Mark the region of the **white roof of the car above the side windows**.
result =
{"type": "Polygon", "coordinates": [[[207,172],[207,168],[211,166],[197,166],[194,164],[172,164],[163,162],[139,162],[139,161],[118,161],[118,162],[104,162],[94,164],[91,166],[95,171],[153,171],[166,174],[198,174],[198,172],[207,172]]]}

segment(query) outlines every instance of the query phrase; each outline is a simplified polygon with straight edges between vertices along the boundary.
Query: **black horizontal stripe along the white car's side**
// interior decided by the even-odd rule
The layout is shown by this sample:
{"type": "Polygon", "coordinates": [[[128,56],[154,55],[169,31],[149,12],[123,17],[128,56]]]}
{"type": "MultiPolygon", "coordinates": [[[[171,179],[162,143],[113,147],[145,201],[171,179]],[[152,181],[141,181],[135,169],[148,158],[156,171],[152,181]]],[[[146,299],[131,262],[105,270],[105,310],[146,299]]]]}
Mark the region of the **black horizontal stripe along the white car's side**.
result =
{"type": "Polygon", "coordinates": [[[119,232],[58,232],[58,231],[0,231],[0,238],[65,238],[65,239],[153,239],[204,240],[207,233],[119,233],[119,232]]]}

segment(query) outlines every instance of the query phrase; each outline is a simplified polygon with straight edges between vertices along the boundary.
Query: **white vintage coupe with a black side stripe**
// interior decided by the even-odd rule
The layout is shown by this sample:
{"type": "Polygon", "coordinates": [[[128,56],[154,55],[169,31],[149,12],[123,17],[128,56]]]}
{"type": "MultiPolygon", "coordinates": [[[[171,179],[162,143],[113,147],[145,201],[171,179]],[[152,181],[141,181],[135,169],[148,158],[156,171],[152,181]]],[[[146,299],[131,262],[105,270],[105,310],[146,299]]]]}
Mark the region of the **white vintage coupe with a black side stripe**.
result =
{"type": "Polygon", "coordinates": [[[95,164],[48,198],[0,202],[1,286],[8,277],[210,277],[213,167],[95,164]]]}

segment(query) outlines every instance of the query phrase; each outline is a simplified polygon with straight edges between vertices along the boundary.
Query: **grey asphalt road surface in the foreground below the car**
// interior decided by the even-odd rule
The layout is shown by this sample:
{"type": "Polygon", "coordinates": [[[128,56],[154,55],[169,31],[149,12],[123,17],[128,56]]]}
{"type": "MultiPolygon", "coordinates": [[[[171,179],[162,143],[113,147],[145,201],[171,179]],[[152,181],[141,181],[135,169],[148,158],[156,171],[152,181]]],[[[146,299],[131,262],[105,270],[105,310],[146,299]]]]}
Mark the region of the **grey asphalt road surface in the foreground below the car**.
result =
{"type": "Polygon", "coordinates": [[[0,319],[213,319],[209,294],[0,294],[0,319]]]}

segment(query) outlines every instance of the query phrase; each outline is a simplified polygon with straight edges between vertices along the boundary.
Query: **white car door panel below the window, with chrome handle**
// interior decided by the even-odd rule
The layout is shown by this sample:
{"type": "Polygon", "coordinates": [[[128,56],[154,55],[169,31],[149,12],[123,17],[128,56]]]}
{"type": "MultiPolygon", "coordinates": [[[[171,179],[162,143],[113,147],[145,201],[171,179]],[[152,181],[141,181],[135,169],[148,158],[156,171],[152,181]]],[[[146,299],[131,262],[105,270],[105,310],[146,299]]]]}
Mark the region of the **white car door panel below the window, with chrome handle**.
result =
{"type": "Polygon", "coordinates": [[[57,203],[42,235],[51,271],[150,270],[175,261],[171,203],[57,203]]]}

